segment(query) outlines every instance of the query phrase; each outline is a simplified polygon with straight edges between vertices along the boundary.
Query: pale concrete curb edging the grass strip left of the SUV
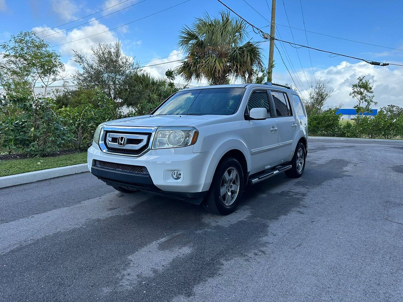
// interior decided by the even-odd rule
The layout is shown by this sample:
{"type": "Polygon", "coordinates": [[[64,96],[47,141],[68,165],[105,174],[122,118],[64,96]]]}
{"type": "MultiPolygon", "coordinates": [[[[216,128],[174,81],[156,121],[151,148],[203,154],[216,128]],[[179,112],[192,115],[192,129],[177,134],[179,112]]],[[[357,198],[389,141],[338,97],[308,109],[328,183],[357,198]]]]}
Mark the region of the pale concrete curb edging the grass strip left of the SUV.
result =
{"type": "Polygon", "coordinates": [[[66,167],[27,172],[10,176],[2,176],[0,177],[0,188],[15,186],[17,184],[27,184],[29,182],[37,182],[38,180],[77,174],[82,172],[88,172],[87,163],[80,163],[78,165],[68,165],[66,167]]]}

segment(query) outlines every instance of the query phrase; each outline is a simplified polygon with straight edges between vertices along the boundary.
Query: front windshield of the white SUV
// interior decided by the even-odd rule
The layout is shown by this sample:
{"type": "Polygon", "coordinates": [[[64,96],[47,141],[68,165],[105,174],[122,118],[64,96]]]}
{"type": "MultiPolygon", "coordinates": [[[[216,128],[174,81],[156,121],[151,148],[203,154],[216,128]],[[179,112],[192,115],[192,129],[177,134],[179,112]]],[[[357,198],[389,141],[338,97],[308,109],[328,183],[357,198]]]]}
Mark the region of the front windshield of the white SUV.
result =
{"type": "Polygon", "coordinates": [[[154,115],[231,115],[237,110],[245,88],[206,88],[178,91],[154,115]]]}

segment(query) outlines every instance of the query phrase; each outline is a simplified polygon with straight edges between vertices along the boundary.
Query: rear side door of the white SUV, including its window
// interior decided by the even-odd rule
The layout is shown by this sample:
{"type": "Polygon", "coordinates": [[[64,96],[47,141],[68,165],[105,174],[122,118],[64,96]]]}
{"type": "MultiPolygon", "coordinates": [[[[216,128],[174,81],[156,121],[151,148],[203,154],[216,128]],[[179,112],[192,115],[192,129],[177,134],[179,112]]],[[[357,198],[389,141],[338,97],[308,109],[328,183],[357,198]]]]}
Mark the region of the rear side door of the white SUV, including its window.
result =
{"type": "Polygon", "coordinates": [[[298,131],[295,118],[291,109],[287,93],[283,91],[270,90],[274,110],[276,112],[276,121],[278,125],[278,153],[277,164],[289,160],[293,154],[293,139],[298,131]]]}

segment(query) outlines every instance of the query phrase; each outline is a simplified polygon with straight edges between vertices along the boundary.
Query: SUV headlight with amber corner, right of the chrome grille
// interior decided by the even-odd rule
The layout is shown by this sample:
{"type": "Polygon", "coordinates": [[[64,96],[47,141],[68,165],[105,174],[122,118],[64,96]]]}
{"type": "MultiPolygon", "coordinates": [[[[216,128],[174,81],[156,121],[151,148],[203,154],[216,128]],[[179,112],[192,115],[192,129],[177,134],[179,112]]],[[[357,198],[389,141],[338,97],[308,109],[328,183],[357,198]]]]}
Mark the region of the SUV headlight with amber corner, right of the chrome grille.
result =
{"type": "Polygon", "coordinates": [[[152,144],[153,149],[186,147],[196,143],[197,131],[194,127],[158,127],[152,144]]]}

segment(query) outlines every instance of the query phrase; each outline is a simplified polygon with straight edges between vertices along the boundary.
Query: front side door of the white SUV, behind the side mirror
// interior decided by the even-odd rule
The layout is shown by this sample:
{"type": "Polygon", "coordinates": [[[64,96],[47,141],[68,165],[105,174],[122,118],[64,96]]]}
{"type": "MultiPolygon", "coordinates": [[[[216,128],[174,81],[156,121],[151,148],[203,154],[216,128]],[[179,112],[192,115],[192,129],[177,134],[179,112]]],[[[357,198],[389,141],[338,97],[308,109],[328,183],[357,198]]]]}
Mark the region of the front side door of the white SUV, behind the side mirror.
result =
{"type": "Polygon", "coordinates": [[[252,108],[266,108],[266,120],[246,120],[251,152],[251,174],[276,165],[278,132],[274,111],[270,107],[266,89],[253,90],[249,96],[245,114],[252,108]]]}

